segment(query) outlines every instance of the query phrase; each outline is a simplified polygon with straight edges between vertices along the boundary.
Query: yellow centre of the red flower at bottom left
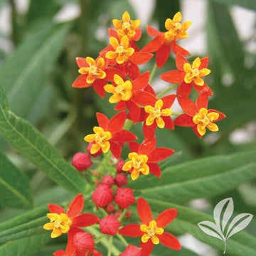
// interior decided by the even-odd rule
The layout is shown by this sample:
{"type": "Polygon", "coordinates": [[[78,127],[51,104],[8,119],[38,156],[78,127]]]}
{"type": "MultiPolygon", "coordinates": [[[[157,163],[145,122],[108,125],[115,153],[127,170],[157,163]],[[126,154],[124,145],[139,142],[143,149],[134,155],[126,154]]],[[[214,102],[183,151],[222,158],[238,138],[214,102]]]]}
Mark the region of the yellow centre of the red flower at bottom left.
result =
{"type": "Polygon", "coordinates": [[[43,228],[53,230],[50,235],[51,238],[58,238],[63,233],[68,233],[68,230],[70,230],[72,220],[70,220],[65,213],[47,213],[47,217],[50,219],[50,223],[43,225],[43,228]]]}

